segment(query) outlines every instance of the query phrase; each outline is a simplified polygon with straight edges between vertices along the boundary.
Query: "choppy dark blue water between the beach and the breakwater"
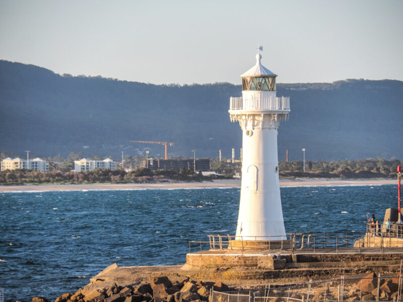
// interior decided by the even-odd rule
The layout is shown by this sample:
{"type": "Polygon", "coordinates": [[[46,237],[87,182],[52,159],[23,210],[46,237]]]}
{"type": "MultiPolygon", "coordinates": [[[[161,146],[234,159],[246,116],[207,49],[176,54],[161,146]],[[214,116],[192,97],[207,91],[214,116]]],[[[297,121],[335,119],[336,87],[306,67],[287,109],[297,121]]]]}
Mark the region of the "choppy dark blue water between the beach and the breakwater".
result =
{"type": "MultiPolygon", "coordinates": [[[[5,300],[54,299],[106,266],[185,262],[188,241],[234,234],[239,188],[0,193],[5,300]]],[[[286,232],[365,231],[393,185],[281,188],[286,232]]]]}

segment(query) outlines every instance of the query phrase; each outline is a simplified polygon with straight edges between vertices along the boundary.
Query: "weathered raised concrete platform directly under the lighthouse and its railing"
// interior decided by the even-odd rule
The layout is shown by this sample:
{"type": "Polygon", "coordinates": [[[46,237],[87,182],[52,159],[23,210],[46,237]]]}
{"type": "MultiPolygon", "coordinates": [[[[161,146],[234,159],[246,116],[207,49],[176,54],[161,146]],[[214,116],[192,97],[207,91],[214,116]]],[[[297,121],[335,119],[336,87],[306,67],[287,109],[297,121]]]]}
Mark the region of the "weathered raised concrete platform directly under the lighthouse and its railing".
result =
{"type": "Polygon", "coordinates": [[[284,250],[209,250],[186,255],[187,270],[229,268],[287,269],[287,268],[337,268],[400,265],[402,248],[327,248],[284,250]],[[382,252],[383,250],[383,252],[382,252]]]}

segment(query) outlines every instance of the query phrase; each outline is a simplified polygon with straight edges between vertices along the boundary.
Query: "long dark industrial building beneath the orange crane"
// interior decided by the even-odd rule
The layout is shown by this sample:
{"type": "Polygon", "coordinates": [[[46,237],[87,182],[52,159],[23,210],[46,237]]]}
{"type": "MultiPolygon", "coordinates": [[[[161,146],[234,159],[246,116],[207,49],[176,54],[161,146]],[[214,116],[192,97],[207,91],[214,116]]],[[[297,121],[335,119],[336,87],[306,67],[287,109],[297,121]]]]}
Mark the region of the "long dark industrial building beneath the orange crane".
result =
{"type": "Polygon", "coordinates": [[[142,168],[149,168],[150,170],[175,170],[178,171],[182,168],[189,170],[194,167],[196,163],[195,171],[210,171],[210,159],[189,159],[189,160],[156,160],[148,159],[142,161],[142,168]]]}

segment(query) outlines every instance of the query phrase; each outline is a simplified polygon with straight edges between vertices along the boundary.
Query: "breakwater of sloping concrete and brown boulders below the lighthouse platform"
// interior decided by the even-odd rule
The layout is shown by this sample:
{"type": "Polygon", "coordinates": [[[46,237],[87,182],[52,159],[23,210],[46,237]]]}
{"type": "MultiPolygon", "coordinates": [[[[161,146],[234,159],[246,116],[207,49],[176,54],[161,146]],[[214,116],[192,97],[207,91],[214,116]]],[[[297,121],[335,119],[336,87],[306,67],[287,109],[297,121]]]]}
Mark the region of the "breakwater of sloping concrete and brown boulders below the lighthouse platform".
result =
{"type": "MultiPolygon", "coordinates": [[[[57,297],[55,302],[201,302],[208,300],[211,289],[241,290],[261,288],[268,284],[273,286],[273,289],[284,285],[307,284],[311,279],[334,280],[342,276],[343,279],[356,278],[351,279],[346,285],[343,282],[348,297],[362,298],[368,295],[366,298],[371,300],[373,296],[382,295],[383,300],[387,300],[397,295],[402,255],[400,253],[299,254],[294,257],[282,255],[285,267],[280,269],[259,266],[258,263],[257,266],[238,267],[197,267],[194,266],[196,263],[189,264],[190,261],[184,266],[119,267],[113,264],[91,278],[90,284],[75,293],[65,293],[57,297]],[[379,278],[379,273],[384,276],[382,279],[379,278]]],[[[266,257],[270,258],[268,255],[266,257]]],[[[258,259],[257,261],[259,262],[258,259]]],[[[312,293],[319,296],[321,290],[326,289],[324,286],[319,286],[312,290],[312,293]]],[[[335,291],[337,289],[330,290],[330,287],[327,287],[327,295],[331,293],[334,296],[335,291]]],[[[304,292],[302,289],[297,289],[295,294],[299,294],[301,298],[304,292]]],[[[32,302],[47,302],[47,300],[34,297],[32,302]]]]}

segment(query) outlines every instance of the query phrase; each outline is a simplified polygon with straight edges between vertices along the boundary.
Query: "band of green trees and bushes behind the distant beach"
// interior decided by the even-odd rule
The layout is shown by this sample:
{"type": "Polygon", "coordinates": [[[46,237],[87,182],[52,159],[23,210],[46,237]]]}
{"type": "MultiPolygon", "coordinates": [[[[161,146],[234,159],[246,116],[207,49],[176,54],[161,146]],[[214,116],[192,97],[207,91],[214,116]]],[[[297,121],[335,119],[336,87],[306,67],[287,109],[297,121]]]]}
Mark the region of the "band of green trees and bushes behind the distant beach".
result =
{"type": "MultiPolygon", "coordinates": [[[[71,154],[71,156],[73,156],[71,154]]],[[[157,170],[135,168],[125,172],[121,169],[115,171],[95,169],[88,172],[72,172],[71,162],[59,158],[57,164],[49,165],[53,169],[49,172],[33,170],[7,170],[0,172],[0,185],[11,184],[45,184],[45,183],[153,183],[171,181],[203,181],[213,179],[232,179],[232,176],[241,172],[241,163],[229,163],[225,158],[211,160],[211,171],[223,174],[223,176],[203,176],[201,172],[193,173],[193,169],[181,169],[180,171],[157,170]],[[69,164],[70,163],[70,164],[69,164]],[[59,168],[56,170],[55,168],[59,168]]],[[[133,163],[140,164],[140,158],[133,163]]],[[[125,158],[126,162],[126,158],[125,158]]],[[[128,166],[129,158],[127,158],[128,166]]],[[[310,178],[394,178],[396,168],[401,165],[399,160],[367,159],[357,161],[307,161],[303,172],[302,161],[280,162],[280,178],[310,177],[310,178]]],[[[126,164],[125,164],[126,167],[126,164]]]]}

